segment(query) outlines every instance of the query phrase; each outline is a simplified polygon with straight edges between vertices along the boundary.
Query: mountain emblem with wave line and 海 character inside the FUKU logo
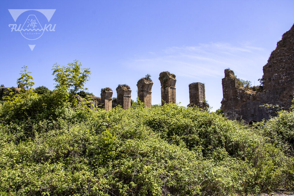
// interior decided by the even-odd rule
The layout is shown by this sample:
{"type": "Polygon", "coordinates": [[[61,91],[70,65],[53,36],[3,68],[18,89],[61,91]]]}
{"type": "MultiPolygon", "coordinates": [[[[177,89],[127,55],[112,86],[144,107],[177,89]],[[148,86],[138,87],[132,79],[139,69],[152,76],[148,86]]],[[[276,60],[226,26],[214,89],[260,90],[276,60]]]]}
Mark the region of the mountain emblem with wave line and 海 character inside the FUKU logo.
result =
{"type": "Polygon", "coordinates": [[[21,27],[21,35],[29,40],[38,39],[43,35],[43,27],[35,15],[29,15],[21,27]]]}

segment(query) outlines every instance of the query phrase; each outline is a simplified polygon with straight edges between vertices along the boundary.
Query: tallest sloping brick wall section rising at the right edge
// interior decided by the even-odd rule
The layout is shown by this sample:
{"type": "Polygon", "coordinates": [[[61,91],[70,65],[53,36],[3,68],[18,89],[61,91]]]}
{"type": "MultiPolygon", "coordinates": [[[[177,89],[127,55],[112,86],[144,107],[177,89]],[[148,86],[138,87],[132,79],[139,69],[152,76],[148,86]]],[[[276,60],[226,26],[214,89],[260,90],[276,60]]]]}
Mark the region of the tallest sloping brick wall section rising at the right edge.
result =
{"type": "Polygon", "coordinates": [[[263,78],[268,101],[288,109],[294,92],[294,25],[271,53],[263,67],[263,78]]]}

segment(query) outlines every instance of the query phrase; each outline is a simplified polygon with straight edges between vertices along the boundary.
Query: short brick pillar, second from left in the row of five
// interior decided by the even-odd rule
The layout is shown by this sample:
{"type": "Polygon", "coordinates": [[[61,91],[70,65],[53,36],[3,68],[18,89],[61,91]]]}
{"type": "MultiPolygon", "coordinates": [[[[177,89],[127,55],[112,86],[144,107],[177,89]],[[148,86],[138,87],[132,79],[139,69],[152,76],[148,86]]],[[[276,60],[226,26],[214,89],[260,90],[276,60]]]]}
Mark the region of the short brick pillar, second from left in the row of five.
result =
{"type": "Polygon", "coordinates": [[[116,88],[117,92],[117,104],[121,105],[124,110],[131,107],[131,88],[126,85],[118,85],[116,88]]]}

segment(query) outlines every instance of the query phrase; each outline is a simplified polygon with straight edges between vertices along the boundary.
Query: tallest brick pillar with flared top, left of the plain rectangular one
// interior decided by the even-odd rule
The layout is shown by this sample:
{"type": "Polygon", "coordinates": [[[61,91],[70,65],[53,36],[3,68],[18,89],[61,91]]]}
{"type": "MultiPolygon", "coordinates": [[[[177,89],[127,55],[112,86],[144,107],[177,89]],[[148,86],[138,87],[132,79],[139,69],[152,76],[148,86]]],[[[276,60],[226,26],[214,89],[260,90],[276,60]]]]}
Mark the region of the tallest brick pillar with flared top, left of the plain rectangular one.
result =
{"type": "Polygon", "coordinates": [[[176,75],[168,71],[159,74],[161,84],[161,105],[164,103],[176,103],[176,75]]]}

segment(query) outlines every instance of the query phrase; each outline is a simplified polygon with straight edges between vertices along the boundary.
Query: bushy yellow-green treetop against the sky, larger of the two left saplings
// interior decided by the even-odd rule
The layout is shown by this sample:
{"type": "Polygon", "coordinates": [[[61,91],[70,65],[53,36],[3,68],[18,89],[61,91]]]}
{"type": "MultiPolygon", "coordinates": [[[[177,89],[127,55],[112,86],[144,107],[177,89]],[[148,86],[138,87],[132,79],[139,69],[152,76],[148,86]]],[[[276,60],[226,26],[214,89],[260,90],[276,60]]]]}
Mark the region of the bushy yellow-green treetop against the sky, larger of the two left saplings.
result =
{"type": "Polygon", "coordinates": [[[52,75],[55,76],[56,90],[70,93],[70,96],[73,97],[78,90],[87,89],[84,88],[84,84],[89,80],[91,71],[89,68],[81,68],[81,66],[82,64],[77,60],[68,63],[67,66],[55,63],[52,75]]]}

